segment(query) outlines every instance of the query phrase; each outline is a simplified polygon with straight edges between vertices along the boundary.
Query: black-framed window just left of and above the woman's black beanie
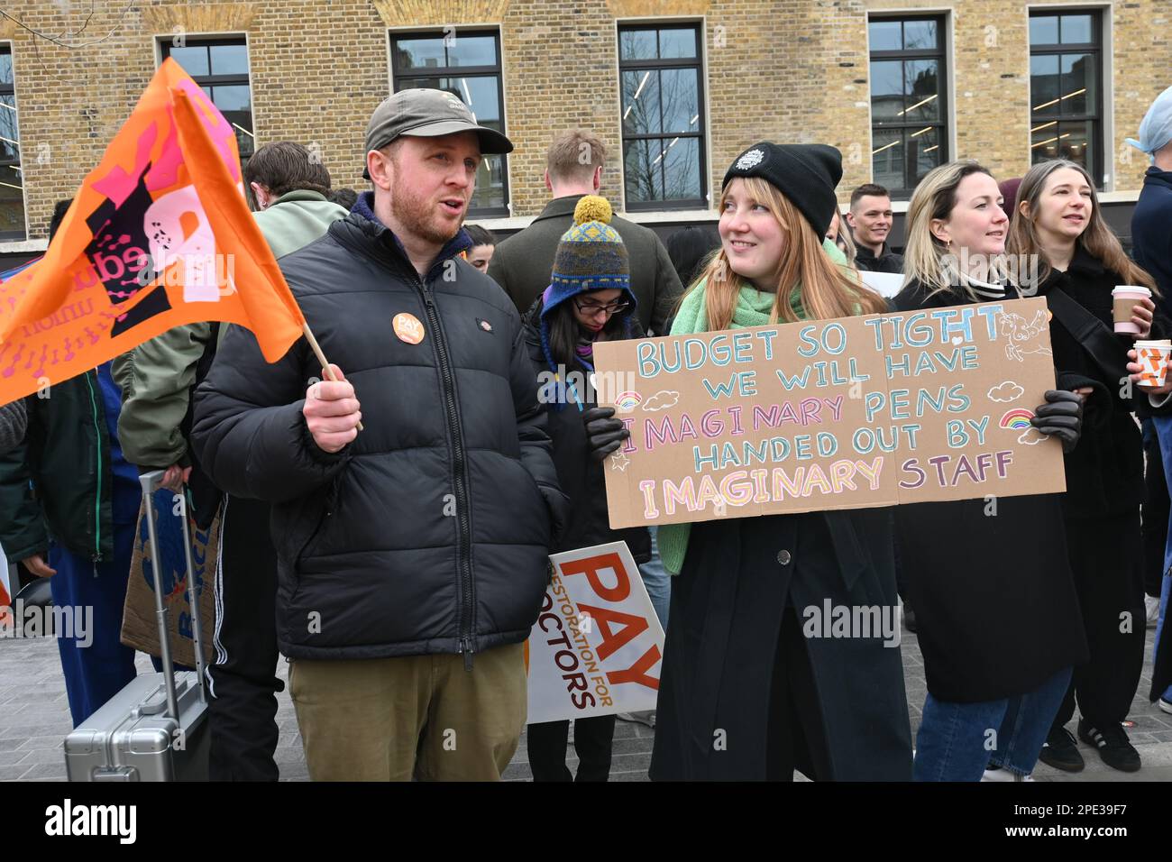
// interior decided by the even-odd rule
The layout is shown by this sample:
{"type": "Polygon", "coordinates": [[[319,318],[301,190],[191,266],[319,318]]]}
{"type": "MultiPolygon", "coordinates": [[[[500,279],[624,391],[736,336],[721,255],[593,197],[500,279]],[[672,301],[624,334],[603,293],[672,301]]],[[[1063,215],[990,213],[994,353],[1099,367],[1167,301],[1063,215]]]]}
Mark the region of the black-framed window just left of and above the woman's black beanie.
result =
{"type": "Polygon", "coordinates": [[[700,25],[619,28],[628,210],[707,209],[700,25]]]}

